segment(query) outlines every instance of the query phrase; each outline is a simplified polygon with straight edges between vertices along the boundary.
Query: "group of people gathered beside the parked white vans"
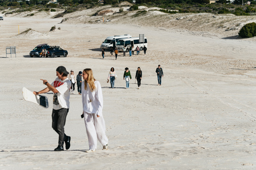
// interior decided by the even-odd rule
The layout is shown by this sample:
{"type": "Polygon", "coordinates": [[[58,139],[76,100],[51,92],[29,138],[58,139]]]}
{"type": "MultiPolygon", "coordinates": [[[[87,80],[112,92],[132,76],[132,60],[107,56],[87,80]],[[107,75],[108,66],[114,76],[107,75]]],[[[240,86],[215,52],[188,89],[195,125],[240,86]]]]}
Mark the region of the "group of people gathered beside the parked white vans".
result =
{"type": "MultiPolygon", "coordinates": [[[[130,56],[134,55],[134,52],[137,52],[137,55],[140,54],[140,47],[139,46],[137,46],[137,47],[129,46],[128,49],[129,49],[129,55],[130,56]]],[[[117,48],[115,48],[115,50],[114,50],[113,47],[110,47],[110,54],[111,55],[113,55],[113,51],[115,53],[115,57],[116,57],[116,60],[117,60],[117,55],[118,55],[117,48]]],[[[146,51],[147,51],[146,46],[143,47],[143,51],[144,51],[144,54],[146,54],[146,51]]],[[[126,54],[126,47],[125,46],[122,48],[122,52],[123,52],[123,56],[125,56],[125,54],[126,54]]],[[[102,51],[101,51],[101,56],[102,56],[102,59],[105,58],[105,50],[104,49],[102,49],[102,51]]]]}

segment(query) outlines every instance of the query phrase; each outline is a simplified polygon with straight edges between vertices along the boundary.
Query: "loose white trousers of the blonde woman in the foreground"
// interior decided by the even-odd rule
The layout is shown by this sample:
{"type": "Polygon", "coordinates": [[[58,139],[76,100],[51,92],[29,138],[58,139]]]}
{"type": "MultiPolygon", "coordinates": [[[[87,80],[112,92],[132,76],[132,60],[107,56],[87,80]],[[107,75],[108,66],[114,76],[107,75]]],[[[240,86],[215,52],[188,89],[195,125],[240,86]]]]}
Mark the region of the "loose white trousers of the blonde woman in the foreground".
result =
{"type": "Polygon", "coordinates": [[[97,138],[101,145],[104,146],[108,144],[103,116],[97,117],[96,114],[84,112],[84,123],[90,150],[97,149],[97,138]]]}

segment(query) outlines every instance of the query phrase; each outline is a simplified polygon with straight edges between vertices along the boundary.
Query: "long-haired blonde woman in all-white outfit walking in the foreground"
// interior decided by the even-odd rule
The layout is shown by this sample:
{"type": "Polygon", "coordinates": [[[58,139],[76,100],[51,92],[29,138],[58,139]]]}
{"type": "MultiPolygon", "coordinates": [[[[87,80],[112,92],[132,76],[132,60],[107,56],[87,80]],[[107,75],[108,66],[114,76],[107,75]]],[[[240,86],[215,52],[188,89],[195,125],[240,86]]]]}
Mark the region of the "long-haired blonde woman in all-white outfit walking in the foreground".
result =
{"type": "Polygon", "coordinates": [[[103,96],[100,82],[93,77],[91,69],[84,69],[82,83],[82,104],[86,133],[89,141],[89,150],[93,152],[97,149],[97,138],[103,145],[103,149],[108,149],[108,138],[106,136],[106,126],[102,115],[103,96]]]}

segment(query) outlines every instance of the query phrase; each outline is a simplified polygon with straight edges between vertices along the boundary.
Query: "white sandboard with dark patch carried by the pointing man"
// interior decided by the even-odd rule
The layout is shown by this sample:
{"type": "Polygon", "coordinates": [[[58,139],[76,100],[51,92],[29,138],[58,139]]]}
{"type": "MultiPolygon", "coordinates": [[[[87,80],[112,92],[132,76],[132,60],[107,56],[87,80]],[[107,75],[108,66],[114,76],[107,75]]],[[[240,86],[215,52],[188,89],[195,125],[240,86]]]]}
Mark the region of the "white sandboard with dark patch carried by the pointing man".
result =
{"type": "Polygon", "coordinates": [[[23,94],[23,98],[26,101],[31,101],[37,105],[40,105],[44,108],[48,108],[49,107],[49,102],[48,102],[48,98],[46,96],[42,96],[42,95],[34,95],[33,92],[29,91],[28,89],[26,89],[25,87],[23,87],[22,89],[22,94],[23,94]]]}

